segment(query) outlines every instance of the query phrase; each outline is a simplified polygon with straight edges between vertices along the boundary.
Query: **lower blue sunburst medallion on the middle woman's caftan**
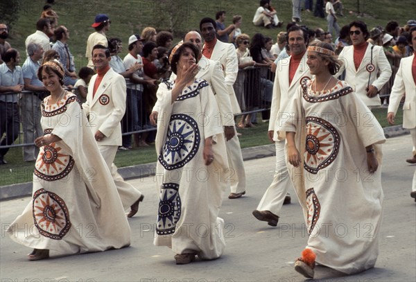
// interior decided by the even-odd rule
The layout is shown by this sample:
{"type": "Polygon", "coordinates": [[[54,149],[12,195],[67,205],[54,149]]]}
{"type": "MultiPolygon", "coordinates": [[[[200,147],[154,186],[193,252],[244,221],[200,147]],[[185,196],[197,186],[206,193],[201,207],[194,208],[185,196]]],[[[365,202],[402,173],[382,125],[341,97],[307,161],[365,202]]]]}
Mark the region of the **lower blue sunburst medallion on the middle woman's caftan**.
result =
{"type": "Polygon", "coordinates": [[[159,195],[159,213],[157,214],[156,233],[158,235],[175,233],[182,209],[178,189],[179,185],[175,183],[162,185],[159,195]]]}

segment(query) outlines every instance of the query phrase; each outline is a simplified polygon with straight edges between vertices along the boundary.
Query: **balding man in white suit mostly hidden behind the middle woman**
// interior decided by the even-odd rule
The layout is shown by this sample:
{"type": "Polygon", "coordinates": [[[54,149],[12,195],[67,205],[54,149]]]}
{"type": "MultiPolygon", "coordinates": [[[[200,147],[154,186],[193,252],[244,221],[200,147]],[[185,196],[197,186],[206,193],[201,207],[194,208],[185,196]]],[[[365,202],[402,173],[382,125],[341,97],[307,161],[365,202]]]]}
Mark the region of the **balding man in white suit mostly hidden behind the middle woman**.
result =
{"type": "MultiPolygon", "coordinates": [[[[198,48],[199,51],[202,50],[202,38],[198,31],[189,31],[189,33],[187,33],[184,37],[184,42],[191,42],[198,48]]],[[[211,90],[214,92],[219,109],[218,115],[213,117],[215,118],[214,122],[223,126],[225,140],[229,141],[235,135],[234,114],[232,113],[231,102],[229,100],[227,85],[225,85],[223,70],[220,68],[218,62],[209,60],[202,54],[200,55],[200,58],[198,58],[198,66],[200,70],[198,71],[196,78],[206,80],[209,83],[211,90]]],[[[175,73],[171,76],[171,80],[173,79],[175,79],[175,73]]],[[[159,103],[156,102],[153,107],[152,114],[150,114],[150,122],[153,125],[156,125],[158,112],[159,103]]],[[[217,137],[224,138],[224,136],[218,135],[217,137]]],[[[227,152],[219,150],[217,146],[215,146],[216,143],[221,144],[222,141],[218,140],[212,147],[214,152],[214,161],[211,166],[207,167],[209,170],[209,178],[207,181],[210,183],[209,186],[219,187],[220,190],[225,191],[225,189],[229,187],[229,181],[227,181],[227,178],[231,175],[232,171],[229,170],[227,162],[222,162],[223,159],[227,159],[224,158],[224,156],[227,155],[227,152]]]]}

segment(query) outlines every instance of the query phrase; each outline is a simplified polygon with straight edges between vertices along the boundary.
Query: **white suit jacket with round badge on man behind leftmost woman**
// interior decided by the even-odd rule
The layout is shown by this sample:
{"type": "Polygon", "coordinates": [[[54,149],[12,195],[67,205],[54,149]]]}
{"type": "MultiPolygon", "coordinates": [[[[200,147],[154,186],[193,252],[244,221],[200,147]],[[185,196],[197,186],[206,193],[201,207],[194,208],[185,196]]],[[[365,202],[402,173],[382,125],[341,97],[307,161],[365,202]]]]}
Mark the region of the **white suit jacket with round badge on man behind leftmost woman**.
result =
{"type": "Polygon", "coordinates": [[[105,73],[94,98],[94,84],[98,75],[91,78],[87,101],[83,104],[93,134],[100,130],[104,135],[98,146],[121,146],[121,118],[125,112],[125,80],[111,68],[105,73]]]}

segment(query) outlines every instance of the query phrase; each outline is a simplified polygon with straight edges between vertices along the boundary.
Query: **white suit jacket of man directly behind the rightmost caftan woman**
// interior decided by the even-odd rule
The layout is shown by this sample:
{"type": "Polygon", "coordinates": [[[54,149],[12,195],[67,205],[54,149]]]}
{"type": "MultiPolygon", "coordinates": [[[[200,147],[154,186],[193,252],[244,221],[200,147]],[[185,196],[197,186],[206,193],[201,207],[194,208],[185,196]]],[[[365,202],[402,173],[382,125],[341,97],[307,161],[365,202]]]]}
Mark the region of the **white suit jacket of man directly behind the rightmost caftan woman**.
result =
{"type": "Polygon", "coordinates": [[[286,139],[286,132],[279,131],[279,134],[277,134],[281,119],[288,118],[288,115],[290,114],[285,112],[286,105],[291,100],[290,98],[295,94],[296,89],[300,87],[302,81],[312,79],[311,72],[306,64],[307,56],[308,54],[305,52],[299,67],[297,67],[295,76],[293,76],[291,85],[289,85],[289,63],[291,62],[291,57],[284,58],[277,62],[268,127],[269,131],[274,132],[274,141],[286,139]]]}

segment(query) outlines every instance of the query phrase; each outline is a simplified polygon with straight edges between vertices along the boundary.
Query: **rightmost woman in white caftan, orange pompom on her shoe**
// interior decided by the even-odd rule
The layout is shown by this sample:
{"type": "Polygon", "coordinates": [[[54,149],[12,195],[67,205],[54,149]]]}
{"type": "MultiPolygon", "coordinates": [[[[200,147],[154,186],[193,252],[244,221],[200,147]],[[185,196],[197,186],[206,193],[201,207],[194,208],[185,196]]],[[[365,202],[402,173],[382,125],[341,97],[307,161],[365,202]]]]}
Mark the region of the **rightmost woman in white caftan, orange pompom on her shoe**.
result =
{"type": "MultiPolygon", "coordinates": [[[[383,191],[374,144],[385,142],[376,118],[345,82],[333,49],[308,47],[315,75],[287,104],[288,168],[304,211],[308,243],[295,270],[313,278],[315,262],[345,274],[374,267],[383,191]]],[[[377,146],[380,148],[380,146],[377,146]]]]}

